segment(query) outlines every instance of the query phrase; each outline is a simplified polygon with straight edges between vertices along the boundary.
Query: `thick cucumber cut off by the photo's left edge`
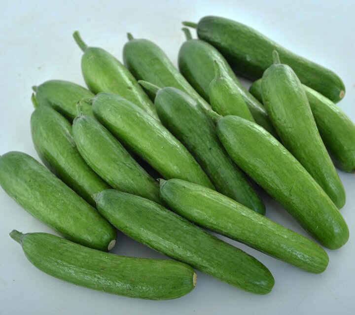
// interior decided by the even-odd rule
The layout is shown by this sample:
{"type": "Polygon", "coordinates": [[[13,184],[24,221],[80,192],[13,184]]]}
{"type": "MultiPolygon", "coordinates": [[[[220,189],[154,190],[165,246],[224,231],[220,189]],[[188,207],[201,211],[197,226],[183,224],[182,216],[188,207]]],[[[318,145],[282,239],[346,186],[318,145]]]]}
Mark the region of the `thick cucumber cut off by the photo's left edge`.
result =
{"type": "Polygon", "coordinates": [[[68,240],[100,250],[116,243],[116,230],[65,183],[22,152],[0,157],[0,185],[21,207],[68,240]]]}

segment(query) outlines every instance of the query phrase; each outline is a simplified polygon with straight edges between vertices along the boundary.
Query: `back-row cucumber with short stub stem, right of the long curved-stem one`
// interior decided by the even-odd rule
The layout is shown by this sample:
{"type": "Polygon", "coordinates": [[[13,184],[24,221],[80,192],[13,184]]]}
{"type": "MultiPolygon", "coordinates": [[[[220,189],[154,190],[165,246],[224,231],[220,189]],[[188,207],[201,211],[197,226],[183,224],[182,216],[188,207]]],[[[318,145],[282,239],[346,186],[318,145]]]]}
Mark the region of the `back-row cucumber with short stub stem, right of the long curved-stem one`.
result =
{"type": "Polygon", "coordinates": [[[137,80],[145,80],[159,87],[173,86],[189,94],[202,107],[211,109],[160,47],[147,39],[134,39],[131,34],[128,34],[128,39],[123,47],[123,62],[137,80]]]}

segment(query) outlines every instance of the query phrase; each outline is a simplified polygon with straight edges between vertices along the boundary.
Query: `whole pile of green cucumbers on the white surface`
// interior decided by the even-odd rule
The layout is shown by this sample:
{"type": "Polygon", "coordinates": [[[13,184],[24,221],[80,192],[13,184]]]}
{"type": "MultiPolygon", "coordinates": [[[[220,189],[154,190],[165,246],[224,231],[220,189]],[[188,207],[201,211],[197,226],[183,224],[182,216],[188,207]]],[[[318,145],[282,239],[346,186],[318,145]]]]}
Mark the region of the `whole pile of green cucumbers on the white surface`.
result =
{"type": "MultiPolygon", "coordinates": [[[[88,89],[34,87],[32,139],[43,165],[0,157],[0,185],[64,238],[10,236],[43,272],[129,297],[173,299],[205,272],[257,294],[274,278],[261,262],[204,229],[311,273],[349,239],[334,164],[355,172],[355,124],[334,103],[331,70],[246,25],[208,16],[178,55],[128,34],[124,65],[78,32],[88,89]],[[255,82],[247,91],[235,73],[255,82]],[[268,219],[254,183],[319,244],[268,219]],[[116,229],[173,258],[119,256],[116,229]]],[[[120,240],[118,240],[120,242],[120,240]]]]}

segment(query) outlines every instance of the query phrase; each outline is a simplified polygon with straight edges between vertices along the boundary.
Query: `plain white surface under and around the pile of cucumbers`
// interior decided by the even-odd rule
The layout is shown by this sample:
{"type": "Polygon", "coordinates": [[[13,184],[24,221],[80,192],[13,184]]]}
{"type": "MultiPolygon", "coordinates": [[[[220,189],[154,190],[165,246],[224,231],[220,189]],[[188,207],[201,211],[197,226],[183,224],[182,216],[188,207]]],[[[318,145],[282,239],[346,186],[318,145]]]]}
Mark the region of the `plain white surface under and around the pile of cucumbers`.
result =
{"type": "MultiPolygon", "coordinates": [[[[71,34],[79,30],[89,45],[121,59],[126,32],[151,39],[176,63],[184,40],[183,20],[205,15],[236,19],[269,35],[289,49],[329,67],[344,80],[347,93],[339,104],[355,120],[355,2],[302,1],[1,1],[0,154],[20,150],[38,158],[30,134],[31,86],[48,79],[84,84],[81,51],[71,34]],[[75,2],[75,3],[73,3],[75,2]],[[288,3],[287,3],[288,2],[288,3]]],[[[0,314],[355,314],[355,177],[340,172],[347,191],[342,209],[351,238],[327,250],[327,270],[313,275],[245,249],[275,278],[272,293],[253,295],[198,272],[197,286],[172,301],[145,301],[110,295],[50,277],[28,262],[10,239],[12,229],[50,232],[15,204],[0,188],[0,314]]],[[[304,235],[275,202],[265,197],[267,216],[304,235]]],[[[164,256],[119,235],[115,253],[164,256]]]]}

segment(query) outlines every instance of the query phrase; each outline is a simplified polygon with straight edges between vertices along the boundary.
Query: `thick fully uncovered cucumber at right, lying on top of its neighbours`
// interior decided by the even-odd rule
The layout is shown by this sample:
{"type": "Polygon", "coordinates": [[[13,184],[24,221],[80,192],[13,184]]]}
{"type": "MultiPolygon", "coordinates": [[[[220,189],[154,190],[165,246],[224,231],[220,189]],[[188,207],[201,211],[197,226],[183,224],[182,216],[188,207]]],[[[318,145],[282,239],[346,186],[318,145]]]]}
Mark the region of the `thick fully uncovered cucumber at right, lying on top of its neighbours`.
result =
{"type": "Polygon", "coordinates": [[[340,211],[265,129],[243,118],[226,116],[218,120],[217,135],[232,160],[320,244],[336,249],[348,241],[349,229],[340,211]]]}

